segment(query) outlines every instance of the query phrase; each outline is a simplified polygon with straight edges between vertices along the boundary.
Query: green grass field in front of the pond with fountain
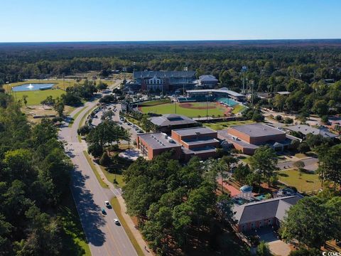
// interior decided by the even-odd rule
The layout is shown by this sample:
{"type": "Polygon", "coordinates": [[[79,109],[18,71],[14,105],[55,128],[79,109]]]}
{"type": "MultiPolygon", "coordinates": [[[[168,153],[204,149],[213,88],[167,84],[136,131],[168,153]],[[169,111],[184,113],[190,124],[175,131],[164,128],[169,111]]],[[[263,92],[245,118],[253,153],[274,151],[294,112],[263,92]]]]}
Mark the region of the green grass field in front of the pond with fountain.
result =
{"type": "Polygon", "coordinates": [[[38,105],[40,102],[45,100],[48,96],[52,96],[53,98],[60,97],[60,95],[65,94],[64,90],[56,89],[56,90],[34,90],[34,91],[24,91],[24,92],[12,92],[16,100],[21,100],[23,102],[23,95],[27,95],[27,105],[38,105]]]}

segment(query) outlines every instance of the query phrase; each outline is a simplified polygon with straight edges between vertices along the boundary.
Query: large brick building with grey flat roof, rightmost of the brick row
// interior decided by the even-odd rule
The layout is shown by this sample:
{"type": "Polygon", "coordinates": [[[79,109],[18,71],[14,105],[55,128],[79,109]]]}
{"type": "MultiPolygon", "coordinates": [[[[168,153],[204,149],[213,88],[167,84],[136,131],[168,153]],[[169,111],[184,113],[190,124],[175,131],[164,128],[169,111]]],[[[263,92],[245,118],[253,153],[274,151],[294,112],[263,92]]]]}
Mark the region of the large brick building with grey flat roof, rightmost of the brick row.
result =
{"type": "MultiPolygon", "coordinates": [[[[288,149],[293,139],[280,129],[267,124],[234,125],[218,132],[219,139],[224,139],[244,154],[254,154],[261,145],[269,145],[276,151],[288,149]]],[[[299,139],[298,139],[299,140],[299,139]]]]}

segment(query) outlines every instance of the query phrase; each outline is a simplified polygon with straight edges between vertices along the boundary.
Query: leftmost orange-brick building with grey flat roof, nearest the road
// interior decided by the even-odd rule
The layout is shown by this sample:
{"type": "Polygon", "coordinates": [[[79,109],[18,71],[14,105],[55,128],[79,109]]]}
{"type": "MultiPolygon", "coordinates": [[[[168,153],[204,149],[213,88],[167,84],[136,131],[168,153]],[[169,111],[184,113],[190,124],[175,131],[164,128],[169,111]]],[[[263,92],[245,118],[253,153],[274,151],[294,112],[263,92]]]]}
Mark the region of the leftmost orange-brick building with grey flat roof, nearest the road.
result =
{"type": "Polygon", "coordinates": [[[149,160],[166,151],[173,151],[173,159],[180,159],[181,145],[163,132],[139,134],[136,138],[137,148],[149,160]]]}

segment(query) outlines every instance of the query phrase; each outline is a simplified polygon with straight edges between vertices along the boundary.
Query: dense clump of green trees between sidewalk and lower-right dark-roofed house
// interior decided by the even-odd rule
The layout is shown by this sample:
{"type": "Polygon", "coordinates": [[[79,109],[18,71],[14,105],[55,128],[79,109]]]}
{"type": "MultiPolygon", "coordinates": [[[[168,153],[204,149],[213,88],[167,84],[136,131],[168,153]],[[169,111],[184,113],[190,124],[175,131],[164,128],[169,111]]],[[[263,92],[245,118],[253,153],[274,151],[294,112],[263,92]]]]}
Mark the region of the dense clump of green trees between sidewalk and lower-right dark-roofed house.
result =
{"type": "Polygon", "coordinates": [[[127,211],[138,218],[158,255],[219,248],[217,220],[223,223],[232,215],[232,203],[227,195],[217,196],[217,166],[215,160],[203,164],[196,157],[181,166],[168,152],[151,161],[139,158],[124,171],[127,211]]]}

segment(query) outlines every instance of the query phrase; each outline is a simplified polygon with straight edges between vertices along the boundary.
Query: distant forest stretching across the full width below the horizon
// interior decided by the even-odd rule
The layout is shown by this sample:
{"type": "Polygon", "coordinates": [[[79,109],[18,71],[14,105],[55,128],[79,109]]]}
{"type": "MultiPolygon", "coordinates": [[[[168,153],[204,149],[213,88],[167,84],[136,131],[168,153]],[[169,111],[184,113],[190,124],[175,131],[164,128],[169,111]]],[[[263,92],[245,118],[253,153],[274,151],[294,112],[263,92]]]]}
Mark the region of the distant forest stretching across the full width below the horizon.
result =
{"type": "Polygon", "coordinates": [[[246,78],[255,81],[256,91],[279,91],[290,78],[303,82],[340,80],[340,48],[337,46],[237,47],[237,46],[126,46],[125,48],[16,48],[0,49],[0,80],[47,78],[90,70],[183,70],[197,75],[210,73],[222,85],[240,90],[242,66],[246,78]],[[133,65],[135,63],[135,65],[133,65]]]}

